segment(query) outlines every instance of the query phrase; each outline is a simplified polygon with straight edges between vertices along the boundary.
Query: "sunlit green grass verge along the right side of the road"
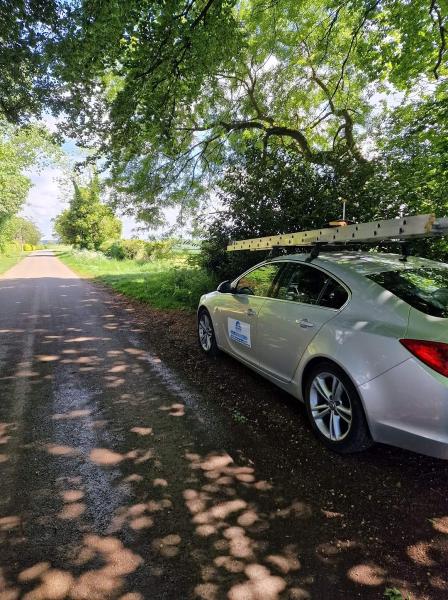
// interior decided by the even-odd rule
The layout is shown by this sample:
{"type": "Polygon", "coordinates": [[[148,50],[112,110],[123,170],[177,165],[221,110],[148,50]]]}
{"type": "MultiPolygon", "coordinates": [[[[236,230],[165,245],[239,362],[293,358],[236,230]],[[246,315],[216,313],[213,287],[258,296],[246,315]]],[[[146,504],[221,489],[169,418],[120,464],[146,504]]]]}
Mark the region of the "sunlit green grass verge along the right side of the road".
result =
{"type": "Polygon", "coordinates": [[[56,249],[55,254],[76,273],[155,308],[194,310],[200,296],[217,283],[204,270],[190,266],[186,257],[142,263],[107,258],[99,252],[56,249]]]}

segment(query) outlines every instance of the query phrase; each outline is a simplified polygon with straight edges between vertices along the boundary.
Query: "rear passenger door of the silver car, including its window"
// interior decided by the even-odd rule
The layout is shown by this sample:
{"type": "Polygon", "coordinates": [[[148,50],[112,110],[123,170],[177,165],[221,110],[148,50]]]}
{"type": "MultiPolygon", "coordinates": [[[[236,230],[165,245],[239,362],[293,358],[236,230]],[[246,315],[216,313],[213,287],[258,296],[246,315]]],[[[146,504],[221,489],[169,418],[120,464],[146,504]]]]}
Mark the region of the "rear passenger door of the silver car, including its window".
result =
{"type": "Polygon", "coordinates": [[[290,381],[300,358],[319,329],[345,304],[348,292],[324,271],[290,262],[258,317],[259,366],[290,381]]]}

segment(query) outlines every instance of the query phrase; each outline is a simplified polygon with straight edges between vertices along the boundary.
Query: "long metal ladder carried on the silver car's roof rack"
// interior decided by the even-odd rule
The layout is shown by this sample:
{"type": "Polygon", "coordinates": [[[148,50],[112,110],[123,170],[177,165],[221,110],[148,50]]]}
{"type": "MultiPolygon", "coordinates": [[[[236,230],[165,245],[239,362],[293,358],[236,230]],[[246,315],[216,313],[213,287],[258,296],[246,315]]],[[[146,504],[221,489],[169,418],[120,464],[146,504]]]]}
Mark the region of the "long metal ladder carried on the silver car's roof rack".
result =
{"type": "MultiPolygon", "coordinates": [[[[343,250],[360,244],[378,245],[443,235],[448,235],[448,218],[436,219],[433,214],[425,214],[351,225],[337,221],[336,227],[233,241],[227,246],[227,251],[271,250],[272,254],[279,255],[281,249],[283,252],[299,248],[307,251],[312,247],[312,260],[319,256],[321,250],[343,250]]],[[[407,255],[408,250],[405,249],[403,256],[407,255]]]]}

